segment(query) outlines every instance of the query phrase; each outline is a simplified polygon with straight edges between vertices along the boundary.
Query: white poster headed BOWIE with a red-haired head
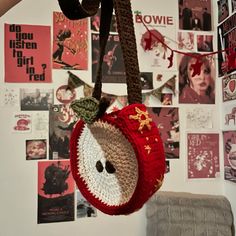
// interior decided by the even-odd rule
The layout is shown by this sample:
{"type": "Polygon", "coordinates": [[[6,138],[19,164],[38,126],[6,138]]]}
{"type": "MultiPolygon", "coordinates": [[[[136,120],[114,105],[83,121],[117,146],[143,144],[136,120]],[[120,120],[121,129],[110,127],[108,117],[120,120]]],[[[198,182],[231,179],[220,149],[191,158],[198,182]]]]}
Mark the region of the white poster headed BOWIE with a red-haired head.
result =
{"type": "MultiPolygon", "coordinates": [[[[153,71],[154,77],[160,71],[173,72],[176,70],[175,54],[171,55],[169,49],[176,47],[177,19],[175,16],[177,9],[175,6],[177,5],[173,6],[173,1],[170,0],[165,1],[165,4],[159,3],[158,9],[140,7],[133,16],[138,58],[140,61],[146,62],[140,63],[140,71],[153,71]],[[166,7],[168,5],[173,7],[166,7]],[[169,59],[172,56],[173,64],[170,66],[169,59]]],[[[148,5],[155,6],[157,1],[149,0],[148,5]]]]}

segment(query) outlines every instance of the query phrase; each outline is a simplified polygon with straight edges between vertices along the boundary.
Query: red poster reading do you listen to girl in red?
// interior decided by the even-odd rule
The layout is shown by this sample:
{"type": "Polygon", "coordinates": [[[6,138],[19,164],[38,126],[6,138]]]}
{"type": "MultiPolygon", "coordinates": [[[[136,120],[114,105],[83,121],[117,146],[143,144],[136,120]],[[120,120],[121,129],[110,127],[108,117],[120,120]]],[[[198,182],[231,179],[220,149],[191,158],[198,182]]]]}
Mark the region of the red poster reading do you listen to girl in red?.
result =
{"type": "Polygon", "coordinates": [[[5,82],[51,82],[50,27],[5,24],[5,82]]]}

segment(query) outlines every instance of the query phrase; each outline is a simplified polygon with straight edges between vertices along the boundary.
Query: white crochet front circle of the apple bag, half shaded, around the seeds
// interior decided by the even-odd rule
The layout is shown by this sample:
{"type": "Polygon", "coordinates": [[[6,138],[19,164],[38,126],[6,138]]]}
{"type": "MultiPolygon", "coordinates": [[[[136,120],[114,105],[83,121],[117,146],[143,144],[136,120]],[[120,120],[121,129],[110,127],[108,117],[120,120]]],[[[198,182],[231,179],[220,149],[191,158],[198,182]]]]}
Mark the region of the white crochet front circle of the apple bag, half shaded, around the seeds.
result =
{"type": "Polygon", "coordinates": [[[122,132],[106,122],[85,125],[77,146],[78,173],[89,191],[109,206],[127,203],[138,181],[138,162],[132,145],[122,132]],[[100,161],[102,172],[96,169],[100,161]],[[109,174],[105,163],[115,167],[109,174]]]}

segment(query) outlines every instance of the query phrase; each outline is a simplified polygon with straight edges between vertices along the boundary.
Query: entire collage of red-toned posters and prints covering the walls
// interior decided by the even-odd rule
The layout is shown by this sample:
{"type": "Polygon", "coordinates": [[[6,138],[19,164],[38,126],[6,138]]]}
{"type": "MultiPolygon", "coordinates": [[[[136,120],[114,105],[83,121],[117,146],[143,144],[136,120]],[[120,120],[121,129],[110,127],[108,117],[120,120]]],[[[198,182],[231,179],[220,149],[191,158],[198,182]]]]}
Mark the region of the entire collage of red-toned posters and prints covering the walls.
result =
{"type": "MultiPolygon", "coordinates": [[[[189,131],[186,135],[187,178],[219,176],[220,134],[213,130],[212,122],[218,66],[225,121],[222,128],[225,179],[236,182],[233,44],[236,1],[219,0],[217,6],[217,29],[213,24],[211,0],[178,0],[178,19],[169,14],[169,9],[162,13],[157,13],[156,9],[154,12],[135,9],[133,18],[139,60],[149,62],[140,63],[143,103],[164,143],[166,174],[171,172],[171,160],[180,158],[181,115],[185,116],[189,131]],[[216,48],[222,52],[217,56],[216,48]],[[200,67],[195,70],[194,65],[199,62],[200,67]],[[179,108],[183,106],[186,114],[180,114],[179,108]]],[[[97,216],[97,209],[75,186],[70,170],[69,142],[77,122],[70,103],[90,96],[93,90],[90,82],[95,82],[96,78],[100,11],[82,20],[68,20],[62,12],[52,12],[52,18],[52,27],[6,23],[4,32],[5,83],[21,83],[21,88],[6,86],[0,102],[1,106],[19,107],[12,116],[11,132],[31,133],[34,137],[25,140],[25,159],[36,161],[38,165],[38,224],[97,216]],[[27,88],[27,83],[52,84],[52,69],[66,70],[68,81],[75,82],[75,88],[68,89],[68,84],[56,89],[27,88]],[[77,70],[91,71],[92,78],[79,78],[77,70]]],[[[103,83],[125,84],[115,15],[103,64],[103,83]]],[[[111,98],[107,112],[127,105],[125,95],[105,95],[111,98]]]]}

